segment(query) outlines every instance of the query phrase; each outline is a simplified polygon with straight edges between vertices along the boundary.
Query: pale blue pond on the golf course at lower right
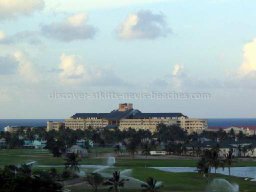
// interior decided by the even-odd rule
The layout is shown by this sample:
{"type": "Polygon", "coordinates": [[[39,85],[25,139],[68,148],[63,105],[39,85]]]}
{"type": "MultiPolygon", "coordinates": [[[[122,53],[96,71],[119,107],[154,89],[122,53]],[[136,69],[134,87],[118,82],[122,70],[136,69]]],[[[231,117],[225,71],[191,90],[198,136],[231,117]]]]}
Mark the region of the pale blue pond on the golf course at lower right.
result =
{"type": "MultiPolygon", "coordinates": [[[[158,170],[168,171],[168,172],[196,172],[196,167],[151,167],[158,170]]],[[[214,168],[211,169],[214,172],[214,168]]],[[[228,168],[224,170],[222,168],[216,169],[217,173],[228,175],[228,168]]],[[[246,166],[246,167],[230,167],[230,174],[233,176],[240,177],[250,177],[251,180],[256,181],[256,166],[246,166]]]]}

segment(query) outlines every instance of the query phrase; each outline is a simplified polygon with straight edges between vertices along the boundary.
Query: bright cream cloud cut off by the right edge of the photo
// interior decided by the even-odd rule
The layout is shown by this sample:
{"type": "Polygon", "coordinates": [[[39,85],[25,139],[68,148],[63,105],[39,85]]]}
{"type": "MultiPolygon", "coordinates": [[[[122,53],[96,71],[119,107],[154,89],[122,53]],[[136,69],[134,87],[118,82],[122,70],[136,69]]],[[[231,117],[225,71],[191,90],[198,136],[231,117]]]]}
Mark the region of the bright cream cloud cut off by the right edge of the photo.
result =
{"type": "Polygon", "coordinates": [[[243,62],[238,68],[241,76],[256,72],[256,38],[243,46],[243,62]]]}

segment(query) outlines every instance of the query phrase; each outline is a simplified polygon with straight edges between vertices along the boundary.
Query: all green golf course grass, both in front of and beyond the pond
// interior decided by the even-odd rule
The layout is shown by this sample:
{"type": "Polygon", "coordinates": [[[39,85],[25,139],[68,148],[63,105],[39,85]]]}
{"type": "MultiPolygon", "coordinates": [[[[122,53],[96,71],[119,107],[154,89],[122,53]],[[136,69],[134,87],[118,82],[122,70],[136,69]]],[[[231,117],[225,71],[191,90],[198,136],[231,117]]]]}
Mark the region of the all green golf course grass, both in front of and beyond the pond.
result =
{"type": "MultiPolygon", "coordinates": [[[[101,152],[109,152],[110,149],[97,149],[101,152]]],[[[112,150],[112,149],[111,149],[112,150]]],[[[30,161],[36,161],[34,165],[63,165],[65,158],[56,158],[53,157],[47,151],[40,149],[10,149],[10,150],[0,150],[0,167],[8,164],[19,165],[21,163],[26,163],[30,161]]],[[[106,165],[106,158],[83,158],[80,161],[80,164],[100,164],[106,165]]],[[[109,168],[105,170],[108,173],[111,173],[114,170],[122,170],[132,168],[131,176],[139,180],[146,180],[148,176],[163,182],[163,188],[161,191],[176,191],[176,192],[199,192],[204,191],[205,181],[202,179],[202,175],[195,172],[183,172],[183,173],[174,173],[166,172],[153,168],[145,168],[149,166],[191,166],[194,167],[197,160],[180,160],[180,159],[116,159],[115,168],[109,168]]],[[[238,161],[235,166],[256,166],[254,161],[238,161]]],[[[64,167],[56,167],[57,171],[60,173],[64,167]]],[[[94,171],[95,168],[80,168],[84,172],[94,171]]],[[[44,170],[48,171],[49,167],[32,167],[32,171],[35,170],[44,170]]],[[[224,178],[230,183],[239,184],[239,191],[255,191],[256,182],[244,180],[242,177],[227,176],[222,174],[212,174],[212,178],[224,178]]],[[[132,186],[126,186],[121,191],[141,191],[138,187],[137,189],[131,189],[132,186]]],[[[81,192],[81,191],[92,191],[91,189],[83,188],[79,185],[69,187],[72,192],[81,192]]],[[[100,189],[100,191],[107,191],[106,188],[100,189]]],[[[223,191],[224,192],[224,191],[223,191]]]]}

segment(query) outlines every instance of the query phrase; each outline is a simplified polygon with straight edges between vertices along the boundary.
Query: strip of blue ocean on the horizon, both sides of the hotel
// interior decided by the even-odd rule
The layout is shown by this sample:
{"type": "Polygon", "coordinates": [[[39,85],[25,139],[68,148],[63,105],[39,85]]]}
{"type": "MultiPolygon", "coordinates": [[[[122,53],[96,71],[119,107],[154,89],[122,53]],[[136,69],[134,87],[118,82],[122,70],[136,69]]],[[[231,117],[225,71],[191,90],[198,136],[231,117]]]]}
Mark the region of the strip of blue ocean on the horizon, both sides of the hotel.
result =
{"type": "MultiPolygon", "coordinates": [[[[10,126],[46,126],[47,120],[64,121],[64,119],[0,119],[0,130],[10,126]]],[[[209,118],[208,126],[255,125],[256,118],[209,118]]]]}

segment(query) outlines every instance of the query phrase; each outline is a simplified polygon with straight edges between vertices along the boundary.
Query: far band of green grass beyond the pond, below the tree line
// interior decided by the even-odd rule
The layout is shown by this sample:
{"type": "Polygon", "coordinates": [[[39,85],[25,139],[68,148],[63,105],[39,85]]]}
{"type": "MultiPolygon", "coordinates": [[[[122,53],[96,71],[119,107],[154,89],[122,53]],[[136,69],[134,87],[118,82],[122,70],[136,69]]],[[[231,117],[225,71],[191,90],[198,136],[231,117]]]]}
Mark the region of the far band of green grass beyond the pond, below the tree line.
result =
{"type": "MultiPolygon", "coordinates": [[[[112,148],[103,149],[103,147],[98,147],[98,151],[108,152],[112,148]]],[[[100,155],[99,155],[100,156],[100,155]]],[[[36,161],[35,165],[61,165],[64,164],[64,157],[53,157],[51,153],[41,150],[41,149],[0,149],[0,167],[8,164],[18,165],[21,163],[27,163],[31,161],[36,161]]],[[[106,165],[107,160],[104,158],[82,158],[80,164],[100,164],[106,165]]],[[[116,158],[115,166],[118,167],[144,167],[148,166],[185,166],[194,167],[196,166],[197,160],[182,160],[182,159],[125,159],[116,158]]],[[[233,166],[256,166],[256,161],[237,161],[233,166]]]]}

